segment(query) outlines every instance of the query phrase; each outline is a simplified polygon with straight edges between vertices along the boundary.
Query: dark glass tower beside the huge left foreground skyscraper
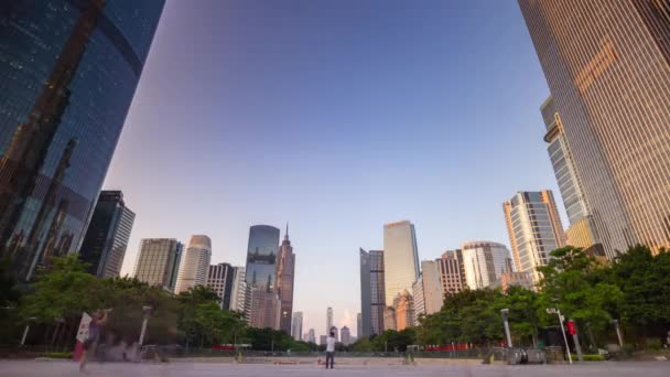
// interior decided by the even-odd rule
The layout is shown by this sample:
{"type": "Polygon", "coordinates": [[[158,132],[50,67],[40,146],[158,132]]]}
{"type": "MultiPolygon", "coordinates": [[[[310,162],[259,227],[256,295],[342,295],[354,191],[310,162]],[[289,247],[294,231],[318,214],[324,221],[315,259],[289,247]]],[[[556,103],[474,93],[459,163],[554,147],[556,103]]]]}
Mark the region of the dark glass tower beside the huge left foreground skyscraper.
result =
{"type": "Polygon", "coordinates": [[[79,258],[98,278],[116,278],[121,272],[134,213],[123,203],[120,191],[102,191],[88,224],[79,258]]]}

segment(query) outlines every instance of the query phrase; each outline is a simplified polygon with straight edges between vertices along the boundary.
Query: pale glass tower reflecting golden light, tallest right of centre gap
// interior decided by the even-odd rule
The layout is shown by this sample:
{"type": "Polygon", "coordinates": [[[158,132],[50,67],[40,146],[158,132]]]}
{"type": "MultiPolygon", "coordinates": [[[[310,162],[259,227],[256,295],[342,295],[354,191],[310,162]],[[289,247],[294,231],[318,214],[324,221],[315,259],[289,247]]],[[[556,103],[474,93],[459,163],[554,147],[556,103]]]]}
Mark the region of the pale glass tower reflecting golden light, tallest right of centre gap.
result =
{"type": "Polygon", "coordinates": [[[386,304],[404,290],[411,291],[419,279],[419,251],[417,234],[410,222],[386,224],[383,226],[383,272],[386,304]]]}

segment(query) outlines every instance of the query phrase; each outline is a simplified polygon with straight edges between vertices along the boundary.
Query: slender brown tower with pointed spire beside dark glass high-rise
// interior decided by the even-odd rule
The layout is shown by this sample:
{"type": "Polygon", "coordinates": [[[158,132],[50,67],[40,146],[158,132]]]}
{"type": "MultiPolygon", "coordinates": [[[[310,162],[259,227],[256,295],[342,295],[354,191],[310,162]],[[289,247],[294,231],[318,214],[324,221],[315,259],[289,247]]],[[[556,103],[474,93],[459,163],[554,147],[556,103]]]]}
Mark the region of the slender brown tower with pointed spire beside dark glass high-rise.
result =
{"type": "Polygon", "coordinates": [[[291,241],[289,240],[289,225],[287,224],[284,240],[281,243],[281,247],[277,255],[277,294],[279,295],[281,305],[279,328],[287,334],[291,333],[294,274],[295,255],[293,254],[293,247],[291,247],[291,241]]]}

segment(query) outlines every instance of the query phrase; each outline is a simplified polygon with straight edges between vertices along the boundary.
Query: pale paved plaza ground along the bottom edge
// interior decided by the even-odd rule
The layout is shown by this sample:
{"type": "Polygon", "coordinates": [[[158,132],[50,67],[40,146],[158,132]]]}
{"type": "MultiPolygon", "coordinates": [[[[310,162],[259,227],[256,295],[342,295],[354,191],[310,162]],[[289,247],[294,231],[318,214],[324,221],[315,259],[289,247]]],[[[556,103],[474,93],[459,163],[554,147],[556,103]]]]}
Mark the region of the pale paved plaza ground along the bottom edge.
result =
{"type": "MultiPolygon", "coordinates": [[[[343,366],[325,370],[316,365],[250,365],[219,363],[169,363],[169,364],[90,364],[88,376],[104,377],[182,377],[182,376],[226,376],[226,377],[307,377],[307,376],[483,376],[483,377],[580,377],[580,376],[640,376],[668,377],[670,363],[587,363],[583,365],[506,366],[506,365],[452,365],[452,366],[343,366]]],[[[78,365],[73,362],[20,360],[0,362],[2,377],[51,377],[80,376],[78,365]]]]}

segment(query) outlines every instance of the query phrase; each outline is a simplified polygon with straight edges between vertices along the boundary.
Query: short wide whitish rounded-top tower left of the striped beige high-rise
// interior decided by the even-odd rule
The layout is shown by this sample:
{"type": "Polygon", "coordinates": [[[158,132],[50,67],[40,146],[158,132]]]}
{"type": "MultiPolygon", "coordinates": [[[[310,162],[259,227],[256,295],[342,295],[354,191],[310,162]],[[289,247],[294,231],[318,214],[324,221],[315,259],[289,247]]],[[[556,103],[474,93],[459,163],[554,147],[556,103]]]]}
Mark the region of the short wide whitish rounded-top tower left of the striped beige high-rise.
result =
{"type": "Polygon", "coordinates": [[[502,274],[509,250],[502,244],[490,241],[466,241],[463,249],[465,282],[472,290],[483,289],[502,274]]]}

